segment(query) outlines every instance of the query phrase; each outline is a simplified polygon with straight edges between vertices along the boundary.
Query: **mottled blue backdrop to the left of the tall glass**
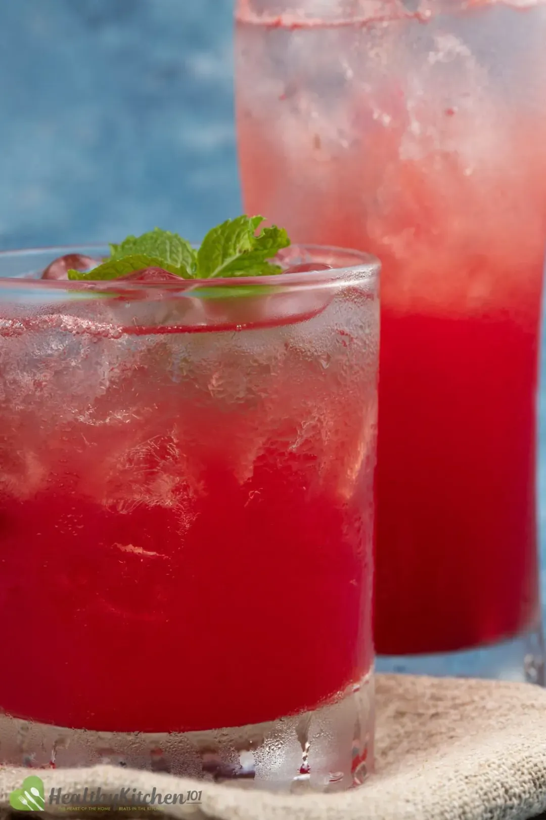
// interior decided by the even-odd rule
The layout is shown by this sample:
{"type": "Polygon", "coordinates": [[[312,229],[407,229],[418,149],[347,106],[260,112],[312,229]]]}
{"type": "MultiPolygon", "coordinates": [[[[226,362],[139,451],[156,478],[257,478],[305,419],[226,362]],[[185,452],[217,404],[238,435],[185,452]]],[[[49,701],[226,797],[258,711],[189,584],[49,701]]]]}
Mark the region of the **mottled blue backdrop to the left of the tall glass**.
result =
{"type": "Polygon", "coordinates": [[[240,211],[232,0],[0,2],[0,248],[240,211]]]}

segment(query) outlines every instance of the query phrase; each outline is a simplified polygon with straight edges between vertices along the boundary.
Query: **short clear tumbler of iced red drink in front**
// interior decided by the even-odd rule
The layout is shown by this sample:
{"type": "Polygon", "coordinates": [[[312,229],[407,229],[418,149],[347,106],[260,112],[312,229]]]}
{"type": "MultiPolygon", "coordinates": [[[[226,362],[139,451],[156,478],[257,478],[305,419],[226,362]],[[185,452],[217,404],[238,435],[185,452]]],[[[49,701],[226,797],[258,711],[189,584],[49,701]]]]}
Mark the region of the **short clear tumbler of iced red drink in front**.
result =
{"type": "Polygon", "coordinates": [[[36,278],[68,252],[0,254],[0,763],[361,782],[376,260],[36,278]]]}

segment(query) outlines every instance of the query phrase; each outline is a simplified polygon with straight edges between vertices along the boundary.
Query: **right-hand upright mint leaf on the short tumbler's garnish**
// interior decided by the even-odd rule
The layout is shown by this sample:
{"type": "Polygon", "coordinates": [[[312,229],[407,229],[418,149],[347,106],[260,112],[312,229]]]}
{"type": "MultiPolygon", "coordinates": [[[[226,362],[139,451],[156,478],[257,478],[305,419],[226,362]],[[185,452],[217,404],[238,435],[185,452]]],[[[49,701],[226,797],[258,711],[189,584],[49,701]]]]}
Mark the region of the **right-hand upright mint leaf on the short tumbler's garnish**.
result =
{"type": "Polygon", "coordinates": [[[213,228],[197,252],[196,277],[214,279],[223,276],[267,276],[281,272],[278,265],[267,262],[281,248],[290,244],[287,231],[273,225],[259,235],[256,229],[263,216],[237,216],[213,228]]]}

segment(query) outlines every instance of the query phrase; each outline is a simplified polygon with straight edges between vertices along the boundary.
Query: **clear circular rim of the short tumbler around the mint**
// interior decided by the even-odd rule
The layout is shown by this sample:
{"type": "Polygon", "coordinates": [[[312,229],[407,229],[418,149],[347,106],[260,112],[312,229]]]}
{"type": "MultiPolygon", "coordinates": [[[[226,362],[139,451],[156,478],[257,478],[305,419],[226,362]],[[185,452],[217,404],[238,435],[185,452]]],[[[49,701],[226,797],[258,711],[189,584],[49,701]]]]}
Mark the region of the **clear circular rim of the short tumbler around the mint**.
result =
{"type": "MultiPolygon", "coordinates": [[[[65,256],[68,253],[82,253],[97,250],[97,253],[104,252],[108,246],[104,243],[74,244],[74,245],[46,245],[41,248],[14,248],[11,250],[0,250],[0,265],[4,260],[10,258],[23,259],[38,257],[42,254],[53,254],[65,256]]],[[[195,246],[197,247],[197,246],[195,246]]],[[[381,271],[381,262],[377,257],[365,251],[354,248],[341,248],[336,245],[321,245],[311,243],[294,243],[286,248],[286,251],[293,251],[301,248],[308,253],[331,254],[339,257],[354,257],[355,264],[345,266],[332,266],[325,271],[297,271],[295,273],[273,274],[270,276],[232,276],[218,277],[214,279],[183,279],[173,282],[146,282],[128,280],[53,280],[53,279],[27,279],[24,276],[2,276],[0,274],[0,289],[9,286],[13,288],[16,282],[17,287],[62,290],[80,289],[154,289],[187,291],[196,286],[200,289],[205,287],[249,287],[260,285],[262,287],[276,287],[282,284],[283,287],[310,288],[313,286],[339,285],[346,281],[368,281],[370,285],[377,283],[381,271]]],[[[281,256],[282,256],[281,252],[281,256]]]]}

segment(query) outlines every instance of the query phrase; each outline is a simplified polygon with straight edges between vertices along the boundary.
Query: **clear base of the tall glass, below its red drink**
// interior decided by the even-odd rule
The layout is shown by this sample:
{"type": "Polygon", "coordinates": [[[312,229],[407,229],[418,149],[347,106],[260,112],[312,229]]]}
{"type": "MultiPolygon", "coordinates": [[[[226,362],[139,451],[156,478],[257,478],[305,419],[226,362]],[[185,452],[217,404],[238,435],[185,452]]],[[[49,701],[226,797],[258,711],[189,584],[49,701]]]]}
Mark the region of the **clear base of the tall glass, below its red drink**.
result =
{"type": "Polygon", "coordinates": [[[494,678],[544,686],[544,658],[544,636],[539,627],[512,640],[464,652],[380,655],[376,668],[377,672],[494,678]]]}

